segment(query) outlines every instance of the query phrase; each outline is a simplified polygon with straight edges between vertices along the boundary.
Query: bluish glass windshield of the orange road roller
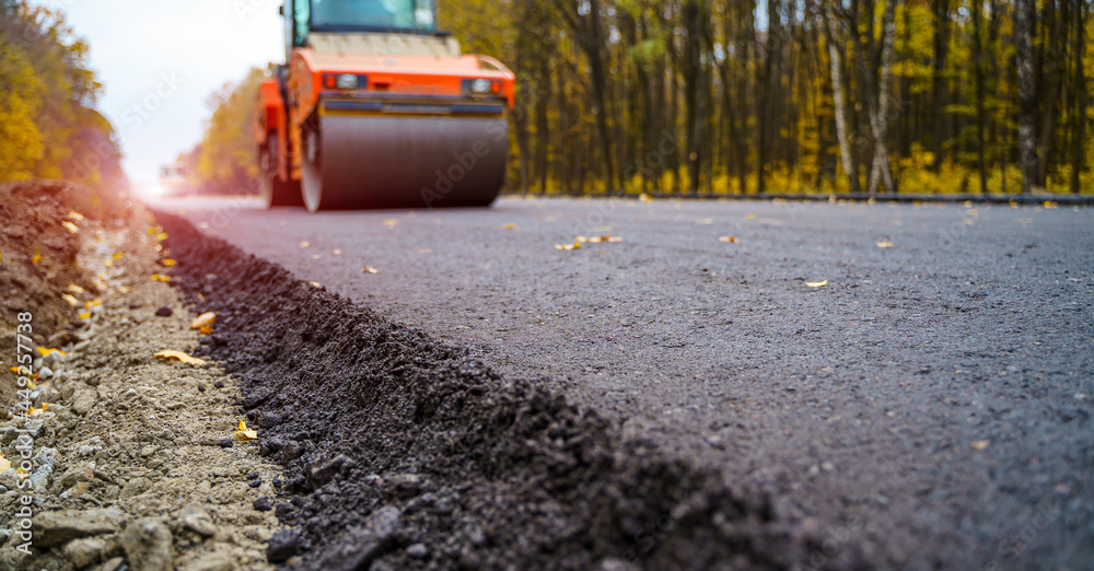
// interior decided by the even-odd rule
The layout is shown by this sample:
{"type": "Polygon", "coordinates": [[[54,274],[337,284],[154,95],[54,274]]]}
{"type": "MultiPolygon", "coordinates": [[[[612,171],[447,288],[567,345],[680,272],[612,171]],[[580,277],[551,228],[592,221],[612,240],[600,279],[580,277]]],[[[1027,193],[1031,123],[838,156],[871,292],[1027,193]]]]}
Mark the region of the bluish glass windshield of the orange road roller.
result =
{"type": "Polygon", "coordinates": [[[433,0],[312,0],[310,16],[323,32],[437,30],[433,0]]]}

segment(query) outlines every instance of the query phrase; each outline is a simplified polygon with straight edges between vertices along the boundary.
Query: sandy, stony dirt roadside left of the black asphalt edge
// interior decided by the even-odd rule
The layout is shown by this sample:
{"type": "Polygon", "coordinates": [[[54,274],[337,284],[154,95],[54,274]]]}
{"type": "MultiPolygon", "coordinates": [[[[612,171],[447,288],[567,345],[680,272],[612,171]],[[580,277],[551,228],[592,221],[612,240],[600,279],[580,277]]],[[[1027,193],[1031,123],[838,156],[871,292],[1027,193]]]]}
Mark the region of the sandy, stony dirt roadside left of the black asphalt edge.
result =
{"type": "MultiPolygon", "coordinates": [[[[40,184],[13,194],[27,199],[4,207],[30,210],[10,213],[37,220],[20,229],[20,244],[61,247],[46,244],[36,263],[25,249],[3,252],[0,278],[18,292],[5,300],[34,313],[35,345],[61,352],[34,362],[33,416],[20,407],[0,422],[12,463],[0,470],[0,569],[269,568],[280,468],[235,434],[237,383],[213,365],[153,358],[190,352],[200,337],[176,291],[152,278],[166,271],[156,233],[143,217],[113,228],[69,218],[72,232],[59,222],[79,207],[62,194],[40,184]],[[46,266],[47,256],[61,261],[46,266]]],[[[14,339],[10,349],[12,383],[14,339]]]]}

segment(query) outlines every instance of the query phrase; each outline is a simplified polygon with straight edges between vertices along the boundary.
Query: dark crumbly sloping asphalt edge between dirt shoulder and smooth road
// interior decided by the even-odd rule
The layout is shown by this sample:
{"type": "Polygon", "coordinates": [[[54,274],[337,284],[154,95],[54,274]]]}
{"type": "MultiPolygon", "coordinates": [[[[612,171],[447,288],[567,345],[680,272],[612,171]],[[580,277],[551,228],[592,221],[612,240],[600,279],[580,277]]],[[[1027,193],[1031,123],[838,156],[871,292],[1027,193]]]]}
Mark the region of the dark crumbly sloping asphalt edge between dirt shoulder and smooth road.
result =
{"type": "MultiPolygon", "coordinates": [[[[810,540],[821,544],[776,521],[761,492],[625,439],[592,410],[501,378],[467,350],[388,323],[177,217],[159,221],[177,260],[171,283],[197,312],[218,314],[223,343],[196,354],[242,380],[249,422],[279,419],[257,423],[259,446],[284,466],[275,488],[294,509],[278,515],[296,531],[270,540],[270,561],[299,555],[287,566],[294,570],[420,564],[369,531],[384,508],[403,510],[398,543],[424,545],[441,569],[590,569],[606,558],[650,569],[779,569],[806,560],[810,540]],[[208,273],[216,288],[206,287],[208,273]]],[[[852,560],[845,551],[841,560],[852,560]]]]}

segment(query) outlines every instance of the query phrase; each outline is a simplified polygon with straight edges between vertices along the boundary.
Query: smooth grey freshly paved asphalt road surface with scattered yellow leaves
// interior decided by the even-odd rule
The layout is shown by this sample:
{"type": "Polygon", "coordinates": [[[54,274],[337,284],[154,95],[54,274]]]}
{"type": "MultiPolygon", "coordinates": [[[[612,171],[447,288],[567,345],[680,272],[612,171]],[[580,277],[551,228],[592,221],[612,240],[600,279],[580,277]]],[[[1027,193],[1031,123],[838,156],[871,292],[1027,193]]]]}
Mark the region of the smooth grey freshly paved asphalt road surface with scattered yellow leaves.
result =
{"type": "Polygon", "coordinates": [[[804,569],[1094,560],[1094,210],[159,206],[768,491],[804,569]]]}

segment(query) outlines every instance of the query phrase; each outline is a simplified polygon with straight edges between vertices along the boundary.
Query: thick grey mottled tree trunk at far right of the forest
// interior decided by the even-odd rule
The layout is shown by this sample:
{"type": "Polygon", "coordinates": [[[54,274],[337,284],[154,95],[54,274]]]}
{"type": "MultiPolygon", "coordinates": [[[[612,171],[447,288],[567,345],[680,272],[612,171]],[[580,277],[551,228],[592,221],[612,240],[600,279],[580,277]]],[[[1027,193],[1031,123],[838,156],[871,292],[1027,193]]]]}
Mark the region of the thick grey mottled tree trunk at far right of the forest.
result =
{"type": "Polygon", "coordinates": [[[1034,70],[1033,31],[1035,0],[1016,0],[1014,10],[1015,60],[1019,68],[1019,156],[1022,191],[1029,194],[1037,180],[1037,77],[1034,70]]]}

